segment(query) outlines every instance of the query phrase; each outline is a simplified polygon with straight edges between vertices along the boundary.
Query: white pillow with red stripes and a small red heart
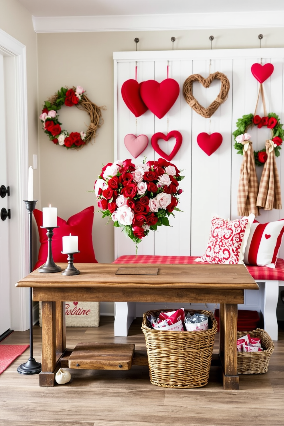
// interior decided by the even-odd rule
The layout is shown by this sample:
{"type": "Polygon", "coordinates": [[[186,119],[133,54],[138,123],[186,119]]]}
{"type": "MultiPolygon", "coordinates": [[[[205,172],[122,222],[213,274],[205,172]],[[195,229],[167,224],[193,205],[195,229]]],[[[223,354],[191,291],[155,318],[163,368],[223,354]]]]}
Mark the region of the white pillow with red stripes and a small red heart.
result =
{"type": "Polygon", "coordinates": [[[268,223],[259,223],[255,220],[250,228],[244,263],[275,268],[283,233],[284,219],[268,223]]]}

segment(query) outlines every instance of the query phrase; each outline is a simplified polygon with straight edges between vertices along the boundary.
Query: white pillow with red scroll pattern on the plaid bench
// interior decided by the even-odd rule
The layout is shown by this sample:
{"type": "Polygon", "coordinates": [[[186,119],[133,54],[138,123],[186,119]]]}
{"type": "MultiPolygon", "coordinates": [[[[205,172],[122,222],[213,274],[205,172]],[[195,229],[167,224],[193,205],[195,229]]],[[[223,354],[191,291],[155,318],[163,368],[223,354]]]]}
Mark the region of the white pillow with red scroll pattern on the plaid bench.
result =
{"type": "Polygon", "coordinates": [[[214,216],[205,254],[195,262],[237,264],[244,263],[244,251],[255,216],[225,220],[214,216]]]}

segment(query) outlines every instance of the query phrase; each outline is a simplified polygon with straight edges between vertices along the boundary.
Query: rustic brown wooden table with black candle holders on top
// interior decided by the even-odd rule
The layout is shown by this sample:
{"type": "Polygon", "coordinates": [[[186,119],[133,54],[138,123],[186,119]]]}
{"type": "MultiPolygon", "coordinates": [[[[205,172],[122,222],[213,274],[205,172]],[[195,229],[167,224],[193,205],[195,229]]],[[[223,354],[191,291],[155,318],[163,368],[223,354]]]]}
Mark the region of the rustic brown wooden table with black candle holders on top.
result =
{"type": "MultiPolygon", "coordinates": [[[[65,264],[58,264],[63,269],[65,264]]],[[[244,290],[258,284],[244,265],[120,265],[78,263],[80,275],[34,271],[16,287],[32,287],[41,301],[42,372],[40,386],[54,386],[66,351],[65,301],[220,303],[219,357],[224,389],[238,390],[237,313],[244,290]],[[120,271],[118,269],[120,268],[120,271]],[[158,269],[158,273],[155,273],[158,269]],[[117,274],[122,272],[122,274],[117,274]]]]}

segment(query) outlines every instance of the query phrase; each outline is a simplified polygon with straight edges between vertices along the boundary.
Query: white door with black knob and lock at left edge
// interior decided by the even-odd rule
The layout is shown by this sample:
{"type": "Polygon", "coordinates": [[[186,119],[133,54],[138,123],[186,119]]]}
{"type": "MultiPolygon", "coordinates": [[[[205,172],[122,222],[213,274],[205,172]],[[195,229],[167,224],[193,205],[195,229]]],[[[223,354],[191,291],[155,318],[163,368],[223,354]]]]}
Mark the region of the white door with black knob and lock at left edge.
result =
{"type": "MultiPolygon", "coordinates": [[[[7,188],[7,156],[6,156],[6,119],[5,119],[5,84],[4,60],[0,55],[0,186],[7,188]]],[[[0,210],[9,209],[9,196],[0,197],[0,210]]],[[[10,328],[10,291],[9,291],[9,219],[0,219],[0,335],[10,328]]]]}

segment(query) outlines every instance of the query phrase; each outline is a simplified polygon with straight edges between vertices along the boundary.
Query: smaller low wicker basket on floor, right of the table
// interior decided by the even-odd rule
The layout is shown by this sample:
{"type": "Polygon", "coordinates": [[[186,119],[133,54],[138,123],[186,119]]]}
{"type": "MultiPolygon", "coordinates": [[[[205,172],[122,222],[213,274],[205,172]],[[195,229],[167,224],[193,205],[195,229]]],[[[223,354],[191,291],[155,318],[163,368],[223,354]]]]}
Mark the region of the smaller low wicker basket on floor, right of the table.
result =
{"type": "Polygon", "coordinates": [[[260,337],[261,347],[264,350],[261,352],[237,352],[238,374],[266,373],[271,354],[274,350],[273,341],[270,335],[262,330],[262,328],[257,328],[253,331],[238,331],[237,338],[239,339],[248,333],[251,337],[260,337]]]}

